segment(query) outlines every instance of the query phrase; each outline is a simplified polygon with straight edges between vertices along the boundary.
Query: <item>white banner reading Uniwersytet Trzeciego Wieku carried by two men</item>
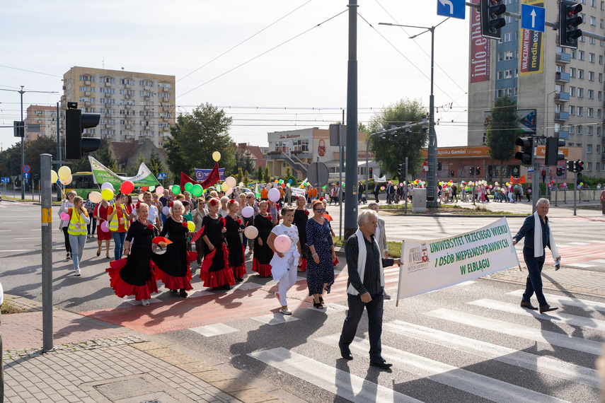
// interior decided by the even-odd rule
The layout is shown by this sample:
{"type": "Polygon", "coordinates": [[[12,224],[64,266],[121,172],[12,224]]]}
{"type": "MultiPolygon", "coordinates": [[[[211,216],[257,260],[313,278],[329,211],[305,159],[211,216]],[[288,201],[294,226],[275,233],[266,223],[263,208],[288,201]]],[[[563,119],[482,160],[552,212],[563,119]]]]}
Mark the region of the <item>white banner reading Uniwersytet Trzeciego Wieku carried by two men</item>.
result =
{"type": "Polygon", "coordinates": [[[397,299],[519,266],[506,218],[449,238],[403,242],[397,299]]]}

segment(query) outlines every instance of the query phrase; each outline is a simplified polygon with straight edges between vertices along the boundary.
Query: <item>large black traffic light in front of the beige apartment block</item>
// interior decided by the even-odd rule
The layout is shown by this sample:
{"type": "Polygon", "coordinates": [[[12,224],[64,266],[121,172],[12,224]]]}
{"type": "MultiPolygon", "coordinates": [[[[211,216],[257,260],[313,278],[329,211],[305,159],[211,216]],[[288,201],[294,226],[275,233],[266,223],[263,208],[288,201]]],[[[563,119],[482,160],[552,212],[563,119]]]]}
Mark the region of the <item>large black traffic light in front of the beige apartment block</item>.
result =
{"type": "Polygon", "coordinates": [[[100,139],[82,137],[83,129],[96,127],[100,114],[82,113],[77,109],[78,103],[67,103],[65,111],[65,159],[79,160],[84,153],[96,151],[100,147],[100,139]]]}

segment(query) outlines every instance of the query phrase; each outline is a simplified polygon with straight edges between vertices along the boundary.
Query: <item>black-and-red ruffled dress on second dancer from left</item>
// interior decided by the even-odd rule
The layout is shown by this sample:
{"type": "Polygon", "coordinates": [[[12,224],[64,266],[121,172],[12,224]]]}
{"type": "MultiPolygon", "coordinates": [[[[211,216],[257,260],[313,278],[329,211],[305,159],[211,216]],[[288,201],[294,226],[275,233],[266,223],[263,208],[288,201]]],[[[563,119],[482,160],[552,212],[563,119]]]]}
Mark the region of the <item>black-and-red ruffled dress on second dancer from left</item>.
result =
{"type": "MultiPolygon", "coordinates": [[[[184,218],[183,218],[184,220],[184,218]]],[[[184,221],[187,223],[187,221],[184,221]]],[[[188,228],[178,223],[171,216],[166,218],[160,236],[166,236],[172,243],[166,247],[163,255],[154,255],[156,265],[156,279],[161,280],[170,290],[184,288],[189,291],[191,286],[191,271],[189,262],[196,258],[195,252],[187,252],[188,228]]]]}

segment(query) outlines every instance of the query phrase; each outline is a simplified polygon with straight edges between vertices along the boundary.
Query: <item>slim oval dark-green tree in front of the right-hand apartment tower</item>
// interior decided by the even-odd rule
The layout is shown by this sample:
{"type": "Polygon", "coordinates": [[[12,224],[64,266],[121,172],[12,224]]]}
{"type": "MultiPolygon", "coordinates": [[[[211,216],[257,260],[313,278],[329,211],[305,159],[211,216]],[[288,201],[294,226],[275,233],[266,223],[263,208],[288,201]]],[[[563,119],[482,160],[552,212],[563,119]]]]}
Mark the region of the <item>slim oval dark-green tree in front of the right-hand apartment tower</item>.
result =
{"type": "Polygon", "coordinates": [[[514,142],[521,133],[517,102],[508,95],[498,98],[488,115],[485,146],[488,147],[490,157],[500,161],[500,182],[504,163],[514,157],[514,142]]]}

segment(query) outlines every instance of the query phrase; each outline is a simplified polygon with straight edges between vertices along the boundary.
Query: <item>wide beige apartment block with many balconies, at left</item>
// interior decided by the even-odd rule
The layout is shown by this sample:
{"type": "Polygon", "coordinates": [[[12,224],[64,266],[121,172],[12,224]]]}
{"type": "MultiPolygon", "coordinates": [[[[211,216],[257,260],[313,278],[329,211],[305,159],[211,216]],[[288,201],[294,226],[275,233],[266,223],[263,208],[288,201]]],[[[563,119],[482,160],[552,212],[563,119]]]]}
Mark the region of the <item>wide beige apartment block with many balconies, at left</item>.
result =
{"type": "Polygon", "coordinates": [[[175,123],[175,78],[161,74],[75,66],[63,76],[62,109],[76,102],[82,112],[100,113],[85,129],[110,141],[150,139],[161,147],[175,123]]]}

